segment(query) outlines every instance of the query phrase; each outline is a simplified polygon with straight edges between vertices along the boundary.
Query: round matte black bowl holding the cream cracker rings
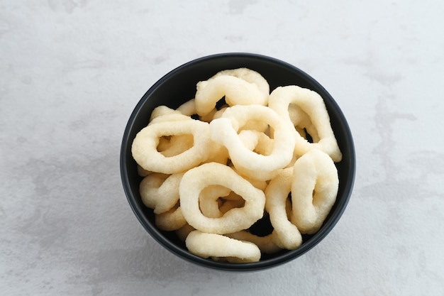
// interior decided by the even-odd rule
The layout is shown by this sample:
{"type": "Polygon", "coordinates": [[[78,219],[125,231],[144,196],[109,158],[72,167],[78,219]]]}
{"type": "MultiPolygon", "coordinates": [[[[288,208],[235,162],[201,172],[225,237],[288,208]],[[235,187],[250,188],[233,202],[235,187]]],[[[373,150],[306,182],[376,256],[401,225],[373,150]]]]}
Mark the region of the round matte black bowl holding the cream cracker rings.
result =
{"type": "MultiPolygon", "coordinates": [[[[342,216],[353,190],[353,182],[355,180],[355,148],[350,128],[338,104],[336,104],[326,89],[312,77],[297,67],[272,57],[251,53],[223,53],[201,57],[177,67],[157,81],[143,95],[140,102],[135,106],[123,134],[121,178],[128,202],[140,224],[167,250],[180,258],[208,268],[230,271],[262,270],[287,263],[301,256],[313,248],[313,246],[316,246],[333,229],[340,216],[342,216]],[[138,175],[137,165],[131,155],[131,144],[135,134],[148,124],[150,114],[156,106],[166,105],[175,109],[182,103],[194,98],[197,82],[207,80],[220,70],[238,67],[247,67],[259,72],[269,82],[270,91],[279,86],[295,84],[299,87],[306,87],[318,92],[326,103],[331,126],[340,150],[343,153],[343,160],[336,164],[340,180],[338,197],[321,229],[316,234],[303,236],[304,243],[296,250],[281,251],[272,255],[262,254],[261,260],[257,263],[226,263],[195,256],[187,251],[184,243],[177,239],[174,232],[157,229],[152,209],[145,207],[140,199],[139,183],[141,177],[138,175]]],[[[259,229],[257,232],[260,234],[261,223],[257,223],[254,228],[255,231],[259,229]]]]}

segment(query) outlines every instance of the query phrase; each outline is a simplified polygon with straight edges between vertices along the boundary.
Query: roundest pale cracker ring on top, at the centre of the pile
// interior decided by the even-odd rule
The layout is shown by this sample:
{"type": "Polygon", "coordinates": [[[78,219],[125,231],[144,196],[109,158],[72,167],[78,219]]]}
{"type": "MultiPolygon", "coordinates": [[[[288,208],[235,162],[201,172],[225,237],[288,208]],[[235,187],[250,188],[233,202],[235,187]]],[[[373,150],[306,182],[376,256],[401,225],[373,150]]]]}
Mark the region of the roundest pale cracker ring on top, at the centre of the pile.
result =
{"type": "Polygon", "coordinates": [[[293,158],[295,138],[289,126],[267,106],[231,106],[220,119],[210,123],[211,138],[226,146],[231,161],[241,174],[257,180],[270,180],[277,169],[284,168],[293,158]],[[261,155],[248,149],[238,136],[240,126],[250,120],[262,120],[273,130],[273,148],[270,155],[261,155]]]}

